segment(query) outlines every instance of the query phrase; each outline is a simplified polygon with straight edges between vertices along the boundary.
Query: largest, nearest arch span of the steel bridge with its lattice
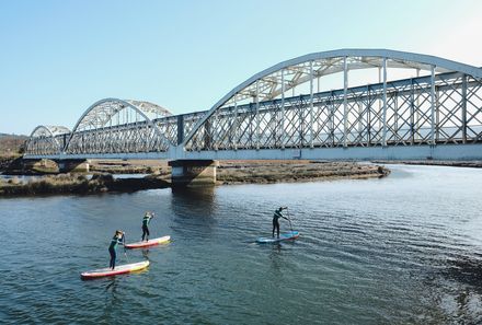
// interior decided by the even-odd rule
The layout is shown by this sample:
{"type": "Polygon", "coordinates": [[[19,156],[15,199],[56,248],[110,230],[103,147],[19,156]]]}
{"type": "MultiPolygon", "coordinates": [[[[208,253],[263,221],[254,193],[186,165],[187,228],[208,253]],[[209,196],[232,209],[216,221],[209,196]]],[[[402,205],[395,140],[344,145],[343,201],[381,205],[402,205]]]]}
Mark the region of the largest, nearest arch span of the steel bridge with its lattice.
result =
{"type": "Polygon", "coordinates": [[[482,69],[385,49],[318,53],[266,69],[234,88],[183,142],[187,151],[479,142],[482,69]],[[379,83],[348,88],[353,70],[379,83]],[[389,81],[389,70],[427,76],[389,81]],[[314,83],[341,74],[338,90],[314,83]],[[382,76],[382,77],[381,77],[382,76]],[[298,95],[295,89],[302,89],[298,95]],[[305,92],[303,92],[305,91],[305,92]]]}

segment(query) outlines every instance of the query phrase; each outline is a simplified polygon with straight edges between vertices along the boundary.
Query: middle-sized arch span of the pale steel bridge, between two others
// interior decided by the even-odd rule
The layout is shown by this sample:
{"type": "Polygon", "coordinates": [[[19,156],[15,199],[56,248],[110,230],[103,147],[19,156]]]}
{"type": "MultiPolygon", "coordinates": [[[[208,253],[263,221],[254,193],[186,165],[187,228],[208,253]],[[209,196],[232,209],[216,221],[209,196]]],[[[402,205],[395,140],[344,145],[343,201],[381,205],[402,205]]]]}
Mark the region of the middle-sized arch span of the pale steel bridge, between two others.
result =
{"type": "Polygon", "coordinates": [[[67,154],[165,152],[172,143],[156,125],[171,116],[150,102],[104,98],[78,119],[65,147],[67,154]]]}

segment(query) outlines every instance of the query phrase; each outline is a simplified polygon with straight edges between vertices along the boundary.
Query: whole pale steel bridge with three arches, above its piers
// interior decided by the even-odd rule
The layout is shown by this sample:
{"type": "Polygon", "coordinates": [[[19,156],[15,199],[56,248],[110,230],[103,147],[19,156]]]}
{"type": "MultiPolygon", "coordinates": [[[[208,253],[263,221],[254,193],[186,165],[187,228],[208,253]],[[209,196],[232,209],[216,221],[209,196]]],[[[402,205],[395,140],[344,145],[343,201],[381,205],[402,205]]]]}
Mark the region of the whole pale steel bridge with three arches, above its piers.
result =
{"type": "Polygon", "coordinates": [[[482,69],[387,49],[323,51],[254,74],[206,112],[106,98],[71,132],[45,129],[25,158],[482,159],[482,69]],[[374,71],[378,80],[364,82],[359,73],[374,71]]]}

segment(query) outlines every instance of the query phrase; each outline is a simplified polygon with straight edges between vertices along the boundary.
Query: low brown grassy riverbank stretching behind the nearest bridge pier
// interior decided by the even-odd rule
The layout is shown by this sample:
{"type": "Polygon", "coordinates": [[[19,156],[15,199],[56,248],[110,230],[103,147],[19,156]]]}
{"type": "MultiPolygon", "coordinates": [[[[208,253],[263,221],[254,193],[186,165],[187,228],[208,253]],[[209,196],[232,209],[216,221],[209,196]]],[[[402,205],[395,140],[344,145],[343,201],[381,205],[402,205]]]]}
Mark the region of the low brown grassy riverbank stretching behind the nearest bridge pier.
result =
{"type": "MultiPolygon", "coordinates": [[[[165,162],[142,161],[94,164],[91,178],[83,174],[35,176],[27,182],[20,178],[0,179],[0,196],[28,196],[53,194],[97,194],[107,191],[136,191],[171,187],[171,169],[165,162]],[[110,171],[102,173],[100,171],[110,171]],[[115,173],[152,172],[145,177],[116,178],[115,173]]],[[[222,161],[217,170],[217,184],[269,184],[320,182],[342,178],[364,179],[385,177],[387,167],[355,162],[320,161],[222,161]]]]}

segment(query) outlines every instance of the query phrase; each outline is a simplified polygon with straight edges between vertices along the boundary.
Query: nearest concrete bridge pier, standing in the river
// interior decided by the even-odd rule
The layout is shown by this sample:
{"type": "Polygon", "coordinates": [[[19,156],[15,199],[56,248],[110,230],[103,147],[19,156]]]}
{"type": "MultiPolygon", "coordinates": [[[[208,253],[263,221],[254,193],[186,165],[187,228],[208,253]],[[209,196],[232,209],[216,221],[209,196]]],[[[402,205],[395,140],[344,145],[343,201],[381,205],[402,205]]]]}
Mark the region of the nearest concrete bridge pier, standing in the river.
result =
{"type": "Polygon", "coordinates": [[[213,186],[216,184],[216,169],[219,165],[213,160],[174,160],[172,167],[172,187],[213,186]]]}

